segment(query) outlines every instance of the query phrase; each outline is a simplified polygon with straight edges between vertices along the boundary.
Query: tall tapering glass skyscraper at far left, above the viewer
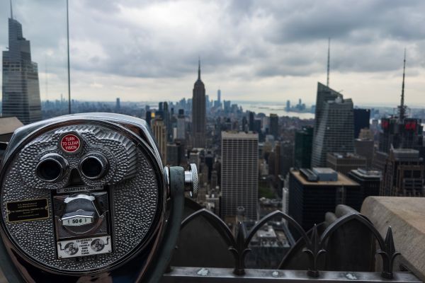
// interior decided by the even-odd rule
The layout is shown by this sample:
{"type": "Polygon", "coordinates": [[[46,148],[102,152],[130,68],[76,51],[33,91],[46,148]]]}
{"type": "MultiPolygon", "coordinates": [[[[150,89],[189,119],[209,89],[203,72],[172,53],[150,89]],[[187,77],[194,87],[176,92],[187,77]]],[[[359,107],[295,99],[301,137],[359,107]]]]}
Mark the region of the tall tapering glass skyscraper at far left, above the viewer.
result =
{"type": "Polygon", "coordinates": [[[8,51],[3,52],[3,116],[16,116],[23,124],[41,120],[37,63],[31,62],[30,41],[22,25],[8,19],[8,51]]]}

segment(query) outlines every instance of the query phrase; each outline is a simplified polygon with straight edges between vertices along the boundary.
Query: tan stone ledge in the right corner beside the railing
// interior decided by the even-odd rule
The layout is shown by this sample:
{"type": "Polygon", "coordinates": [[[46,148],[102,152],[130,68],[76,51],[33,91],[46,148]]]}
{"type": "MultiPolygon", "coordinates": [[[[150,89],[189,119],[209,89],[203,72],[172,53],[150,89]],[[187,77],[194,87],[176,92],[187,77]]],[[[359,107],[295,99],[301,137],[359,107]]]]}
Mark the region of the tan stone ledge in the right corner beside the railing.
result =
{"type": "Polygon", "coordinates": [[[368,197],[361,214],[384,238],[392,227],[395,249],[402,253],[399,262],[425,281],[425,197],[368,197]]]}

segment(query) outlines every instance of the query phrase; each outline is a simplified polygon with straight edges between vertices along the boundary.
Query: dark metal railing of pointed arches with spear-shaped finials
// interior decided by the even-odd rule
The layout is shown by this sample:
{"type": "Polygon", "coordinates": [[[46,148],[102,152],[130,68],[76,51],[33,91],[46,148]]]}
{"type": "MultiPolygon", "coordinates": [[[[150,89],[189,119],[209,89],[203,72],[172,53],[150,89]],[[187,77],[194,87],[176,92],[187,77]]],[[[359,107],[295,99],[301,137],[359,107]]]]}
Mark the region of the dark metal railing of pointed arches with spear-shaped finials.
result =
{"type": "MultiPolygon", "coordinates": [[[[344,216],[341,216],[340,218],[332,222],[329,226],[327,226],[327,229],[325,229],[320,236],[317,231],[317,226],[314,225],[311,233],[306,233],[304,229],[302,229],[302,226],[300,226],[300,224],[298,224],[297,221],[295,221],[295,219],[293,219],[288,214],[285,214],[280,211],[275,211],[264,216],[263,219],[258,221],[249,231],[246,231],[244,224],[239,222],[237,224],[237,233],[235,236],[233,235],[232,231],[229,229],[227,224],[225,224],[225,222],[222,221],[222,219],[220,219],[220,217],[208,211],[207,209],[200,209],[194,212],[193,214],[190,214],[189,216],[187,216],[186,219],[184,219],[181,223],[181,229],[185,229],[185,227],[188,224],[190,224],[191,221],[193,221],[194,219],[197,219],[200,216],[203,216],[203,218],[206,221],[208,221],[209,224],[212,225],[212,227],[220,234],[221,238],[227,244],[228,250],[232,253],[232,256],[234,258],[234,268],[232,272],[234,277],[242,278],[246,275],[245,258],[246,258],[246,255],[251,251],[251,249],[249,248],[249,243],[251,242],[251,239],[254,237],[256,232],[259,231],[259,229],[261,229],[261,227],[263,227],[264,224],[267,224],[268,221],[271,221],[272,219],[276,219],[277,217],[279,217],[288,221],[288,225],[292,226],[293,229],[295,229],[295,231],[297,231],[297,233],[300,234],[300,238],[302,239],[302,241],[304,241],[305,248],[302,249],[302,252],[305,253],[309,259],[307,266],[305,268],[306,270],[305,276],[304,276],[305,278],[310,278],[310,279],[319,278],[321,277],[321,272],[322,272],[322,275],[326,273],[326,276],[329,276],[329,271],[319,270],[318,260],[319,258],[322,257],[324,253],[327,253],[327,241],[329,240],[329,237],[341,226],[346,224],[348,221],[352,221],[352,220],[358,221],[358,223],[360,223],[361,226],[365,227],[368,231],[370,231],[370,233],[373,235],[373,238],[375,238],[376,242],[378,243],[379,248],[378,250],[376,250],[376,253],[379,254],[382,258],[382,269],[381,269],[382,272],[380,272],[380,277],[382,278],[382,281],[391,280],[395,278],[394,276],[395,272],[393,272],[393,265],[394,265],[395,257],[399,255],[399,253],[395,250],[395,244],[392,238],[391,227],[390,226],[388,227],[385,238],[382,238],[379,231],[375,229],[373,224],[365,216],[359,213],[351,213],[351,214],[346,214],[344,216]]],[[[188,272],[188,270],[190,270],[191,267],[178,267],[178,268],[179,270],[177,273],[179,272],[184,273],[184,272],[188,272]]],[[[215,272],[217,272],[217,270],[225,270],[225,269],[210,268],[209,270],[215,270],[215,272]]],[[[249,276],[251,276],[253,272],[254,270],[250,270],[248,272],[249,276]]],[[[299,272],[301,271],[293,271],[293,272],[299,274],[299,272]]],[[[376,272],[362,272],[362,273],[363,273],[363,278],[365,278],[364,274],[369,274],[369,277],[373,275],[374,280],[376,280],[376,277],[379,277],[376,272]]],[[[164,278],[169,277],[170,279],[173,276],[174,276],[173,272],[171,272],[169,273],[169,275],[166,275],[164,278]]],[[[273,278],[273,276],[271,277],[273,278]]],[[[348,279],[350,278],[351,277],[348,277],[348,279]]],[[[401,277],[397,275],[397,277],[394,280],[399,282],[400,278],[401,277]]],[[[416,277],[414,276],[413,278],[416,279],[416,277]]],[[[276,279],[276,277],[274,279],[276,279]]],[[[165,280],[165,281],[174,282],[173,280],[171,281],[165,280]]],[[[405,280],[405,281],[409,281],[409,280],[405,280]]],[[[419,280],[417,282],[419,282],[419,280]]]]}

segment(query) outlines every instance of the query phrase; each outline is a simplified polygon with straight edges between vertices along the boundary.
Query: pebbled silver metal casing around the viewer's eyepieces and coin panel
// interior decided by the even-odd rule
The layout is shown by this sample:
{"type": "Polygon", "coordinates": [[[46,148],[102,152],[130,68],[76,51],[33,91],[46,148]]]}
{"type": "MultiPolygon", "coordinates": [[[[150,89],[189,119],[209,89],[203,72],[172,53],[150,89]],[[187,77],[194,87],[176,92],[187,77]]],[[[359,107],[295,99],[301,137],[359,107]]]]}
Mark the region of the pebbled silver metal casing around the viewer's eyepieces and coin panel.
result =
{"type": "MultiPolygon", "coordinates": [[[[69,115],[18,129],[6,151],[0,175],[1,236],[12,259],[26,260],[47,272],[68,275],[99,274],[142,256],[149,264],[164,231],[168,184],[157,146],[144,120],[103,113],[69,115]],[[61,135],[73,132],[83,139],[77,154],[66,154],[57,147],[61,135]],[[87,260],[57,259],[52,213],[48,219],[8,223],[6,202],[47,198],[67,185],[81,156],[100,151],[108,158],[109,170],[99,180],[81,176],[87,187],[107,186],[111,192],[113,252],[87,260]],[[40,180],[35,166],[41,156],[61,154],[69,168],[57,183],[40,180]],[[149,248],[147,248],[149,247],[149,248]]],[[[21,264],[17,264],[18,267],[21,264]]]]}

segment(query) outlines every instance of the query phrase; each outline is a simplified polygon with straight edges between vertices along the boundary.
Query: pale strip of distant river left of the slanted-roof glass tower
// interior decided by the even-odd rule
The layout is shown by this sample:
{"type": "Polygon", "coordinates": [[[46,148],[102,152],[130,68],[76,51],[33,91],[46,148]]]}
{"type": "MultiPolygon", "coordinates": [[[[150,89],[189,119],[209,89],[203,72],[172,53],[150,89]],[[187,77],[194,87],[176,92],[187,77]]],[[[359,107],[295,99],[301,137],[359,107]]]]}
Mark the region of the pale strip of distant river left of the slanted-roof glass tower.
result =
{"type": "Polygon", "coordinates": [[[286,111],[285,105],[242,101],[238,101],[237,105],[242,106],[244,111],[249,110],[256,112],[256,114],[264,113],[266,115],[270,115],[271,113],[274,113],[278,116],[299,117],[300,119],[314,119],[314,113],[286,111]]]}

